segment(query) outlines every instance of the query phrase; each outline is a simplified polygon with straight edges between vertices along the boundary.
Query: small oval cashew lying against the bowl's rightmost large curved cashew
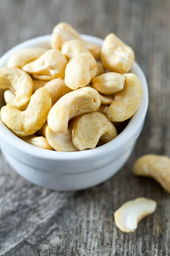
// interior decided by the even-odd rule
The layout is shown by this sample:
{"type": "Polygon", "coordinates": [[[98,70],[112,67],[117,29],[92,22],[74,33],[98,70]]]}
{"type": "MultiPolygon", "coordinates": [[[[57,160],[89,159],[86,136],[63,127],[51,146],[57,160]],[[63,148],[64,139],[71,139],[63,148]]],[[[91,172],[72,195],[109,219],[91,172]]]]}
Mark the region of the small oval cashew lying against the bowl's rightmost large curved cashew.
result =
{"type": "Polygon", "coordinates": [[[96,76],[92,81],[94,89],[105,95],[112,95],[120,90],[123,90],[125,85],[125,77],[119,73],[105,73],[96,76]]]}

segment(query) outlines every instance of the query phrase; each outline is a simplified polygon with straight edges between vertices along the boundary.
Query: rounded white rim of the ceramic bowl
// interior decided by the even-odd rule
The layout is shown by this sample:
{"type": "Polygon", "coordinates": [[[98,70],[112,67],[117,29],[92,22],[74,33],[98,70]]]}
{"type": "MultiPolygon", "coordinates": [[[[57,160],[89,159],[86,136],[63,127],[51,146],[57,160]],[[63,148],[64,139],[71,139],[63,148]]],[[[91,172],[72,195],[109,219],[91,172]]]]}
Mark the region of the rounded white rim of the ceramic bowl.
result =
{"type": "MultiPolygon", "coordinates": [[[[81,34],[82,38],[86,41],[91,43],[97,44],[99,46],[102,45],[103,40],[101,38],[97,38],[91,35],[84,35],[81,34]]],[[[0,67],[4,66],[4,63],[8,61],[8,58],[19,49],[23,49],[26,47],[34,47],[35,44],[49,44],[51,39],[51,35],[43,35],[36,38],[29,39],[24,41],[21,44],[11,48],[8,52],[6,52],[0,58],[0,67]]],[[[44,46],[42,46],[44,47],[44,46]]],[[[19,149],[20,151],[24,151],[26,154],[32,155],[34,157],[46,158],[46,159],[53,159],[53,160],[79,160],[82,158],[91,158],[96,157],[100,154],[107,153],[109,151],[116,151],[118,148],[122,147],[125,143],[127,143],[131,137],[139,130],[142,122],[144,121],[147,107],[148,107],[148,87],[147,87],[147,80],[144,76],[144,73],[139,66],[139,64],[134,61],[132,70],[135,70],[134,73],[138,73],[138,77],[140,77],[142,88],[143,88],[143,97],[139,109],[136,113],[131,117],[129,123],[125,127],[125,129],[119,134],[114,140],[106,143],[105,145],[99,146],[94,149],[89,149],[85,151],[76,151],[76,152],[58,152],[58,151],[51,151],[43,148],[35,147],[31,144],[26,143],[25,141],[18,138],[14,135],[7,127],[3,124],[0,119],[0,137],[3,138],[9,145],[13,146],[14,148],[19,149]]]]}

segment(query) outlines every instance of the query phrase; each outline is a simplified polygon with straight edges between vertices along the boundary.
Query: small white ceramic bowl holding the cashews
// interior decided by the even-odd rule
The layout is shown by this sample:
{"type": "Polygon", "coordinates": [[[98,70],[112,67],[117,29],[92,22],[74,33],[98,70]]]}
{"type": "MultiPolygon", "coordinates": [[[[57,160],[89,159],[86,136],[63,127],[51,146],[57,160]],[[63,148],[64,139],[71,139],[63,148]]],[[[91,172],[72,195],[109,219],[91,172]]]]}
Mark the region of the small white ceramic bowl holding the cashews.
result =
{"type": "MultiPolygon", "coordinates": [[[[99,46],[103,43],[100,38],[89,35],[82,37],[99,46]]],[[[50,48],[50,41],[51,35],[45,35],[17,45],[0,58],[0,67],[5,66],[11,54],[17,50],[26,47],[50,48]]],[[[136,62],[131,72],[142,82],[142,102],[127,127],[113,141],[86,151],[50,151],[20,140],[0,120],[0,148],[10,166],[32,183],[60,191],[85,189],[113,176],[132,153],[147,112],[146,78],[136,62]]],[[[3,91],[0,91],[0,108],[3,105],[3,91]]]]}

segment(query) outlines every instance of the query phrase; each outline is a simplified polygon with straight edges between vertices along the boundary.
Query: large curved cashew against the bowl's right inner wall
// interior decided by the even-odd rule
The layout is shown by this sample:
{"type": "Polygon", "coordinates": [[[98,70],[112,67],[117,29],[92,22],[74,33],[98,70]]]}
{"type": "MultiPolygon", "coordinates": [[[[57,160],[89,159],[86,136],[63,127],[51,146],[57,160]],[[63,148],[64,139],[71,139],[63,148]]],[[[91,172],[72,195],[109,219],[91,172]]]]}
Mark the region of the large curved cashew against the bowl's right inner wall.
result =
{"type": "Polygon", "coordinates": [[[122,122],[129,119],[138,110],[142,100],[142,84],[133,73],[123,75],[125,86],[123,90],[115,93],[115,98],[108,108],[108,119],[122,122]]]}

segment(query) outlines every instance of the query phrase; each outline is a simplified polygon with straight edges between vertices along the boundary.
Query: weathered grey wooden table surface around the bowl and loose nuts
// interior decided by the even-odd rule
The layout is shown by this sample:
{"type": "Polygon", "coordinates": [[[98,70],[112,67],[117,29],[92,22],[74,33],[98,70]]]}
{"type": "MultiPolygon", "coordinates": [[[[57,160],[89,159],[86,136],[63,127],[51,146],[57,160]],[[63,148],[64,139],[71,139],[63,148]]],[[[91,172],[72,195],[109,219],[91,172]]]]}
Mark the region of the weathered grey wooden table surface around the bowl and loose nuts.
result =
{"type": "Polygon", "coordinates": [[[0,255],[170,255],[170,195],[154,180],[132,174],[142,154],[170,156],[170,0],[2,0],[0,55],[50,34],[60,21],[99,38],[114,32],[134,49],[150,92],[146,122],[119,173],[80,192],[35,186],[0,154],[0,255]],[[122,233],[113,213],[141,196],[158,202],[156,212],[135,233],[122,233]]]}

